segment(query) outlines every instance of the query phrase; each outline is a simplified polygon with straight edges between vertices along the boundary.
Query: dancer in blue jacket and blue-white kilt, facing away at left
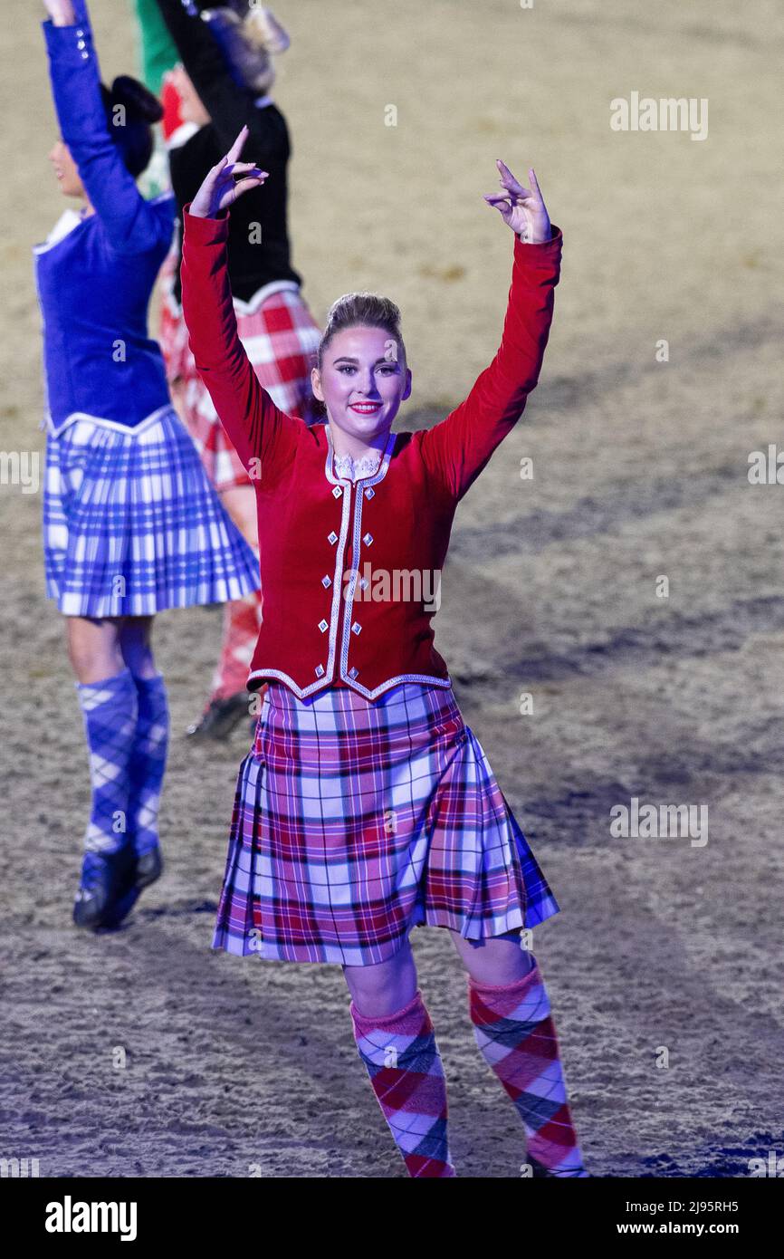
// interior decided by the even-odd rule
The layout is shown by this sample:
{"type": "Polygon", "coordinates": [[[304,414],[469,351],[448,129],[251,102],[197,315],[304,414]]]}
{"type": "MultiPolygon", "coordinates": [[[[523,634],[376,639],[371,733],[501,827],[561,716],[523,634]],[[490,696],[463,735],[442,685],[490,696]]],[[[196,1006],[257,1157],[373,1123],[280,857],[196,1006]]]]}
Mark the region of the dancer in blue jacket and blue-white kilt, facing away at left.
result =
{"type": "Polygon", "coordinates": [[[44,331],[47,594],[67,621],[89,748],[92,810],[74,905],[79,927],[116,925],[162,860],[157,812],[169,711],[156,612],[224,603],[258,587],[169,395],[147,306],[175,203],[136,186],[156,98],[101,82],[84,0],[44,0],[60,138],[50,152],[68,209],[35,247],[44,331]]]}

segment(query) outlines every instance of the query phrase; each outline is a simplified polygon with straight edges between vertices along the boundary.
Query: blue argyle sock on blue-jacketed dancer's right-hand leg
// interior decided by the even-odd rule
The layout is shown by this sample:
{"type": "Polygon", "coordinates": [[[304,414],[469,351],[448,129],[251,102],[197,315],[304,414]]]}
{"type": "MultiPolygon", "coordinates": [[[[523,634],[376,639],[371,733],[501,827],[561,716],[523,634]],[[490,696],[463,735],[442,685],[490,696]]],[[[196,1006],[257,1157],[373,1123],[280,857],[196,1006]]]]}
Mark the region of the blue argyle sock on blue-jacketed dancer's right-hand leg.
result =
{"type": "Polygon", "coordinates": [[[133,838],[136,856],[141,857],[159,842],[157,811],[169,747],[169,705],[160,674],[156,677],[136,677],[135,684],[138,716],[128,765],[128,833],[133,838]]]}

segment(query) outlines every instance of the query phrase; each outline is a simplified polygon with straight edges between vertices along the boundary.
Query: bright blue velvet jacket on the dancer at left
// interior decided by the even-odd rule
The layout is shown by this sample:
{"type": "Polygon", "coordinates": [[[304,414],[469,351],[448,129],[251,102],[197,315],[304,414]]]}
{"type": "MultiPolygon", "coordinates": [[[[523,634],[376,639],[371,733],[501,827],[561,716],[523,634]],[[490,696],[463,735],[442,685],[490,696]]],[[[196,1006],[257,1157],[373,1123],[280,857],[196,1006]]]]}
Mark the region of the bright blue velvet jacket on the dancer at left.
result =
{"type": "Polygon", "coordinates": [[[170,194],[146,201],[127,170],[108,131],[84,0],[74,13],[73,26],[42,26],[60,135],[96,213],[33,251],[47,418],[53,432],[82,418],[136,429],[170,405],[147,306],[175,201],[170,194]]]}

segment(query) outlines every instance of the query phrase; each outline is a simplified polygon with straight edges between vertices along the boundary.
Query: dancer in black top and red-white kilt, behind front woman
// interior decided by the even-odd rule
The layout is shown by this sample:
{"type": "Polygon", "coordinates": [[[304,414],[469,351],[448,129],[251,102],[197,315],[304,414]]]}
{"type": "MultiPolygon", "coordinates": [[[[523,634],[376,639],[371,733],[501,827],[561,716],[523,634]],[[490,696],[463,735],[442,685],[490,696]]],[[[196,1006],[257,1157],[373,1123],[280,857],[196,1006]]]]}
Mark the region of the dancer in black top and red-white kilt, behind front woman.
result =
{"type": "MultiPolygon", "coordinates": [[[[182,205],[193,200],[206,171],[243,126],[248,151],[271,172],[269,184],[238,204],[229,240],[229,274],[238,330],[262,385],[282,409],[308,423],[321,418],[310,373],[321,330],[307,308],[291,266],[287,234],[286,120],[269,97],[273,55],[288,37],[269,10],[235,5],[233,48],[218,42],[196,5],[156,0],[181,65],[166,77],[180,97],[182,125],[169,136],[171,183],[177,201],[176,244],[167,263],[161,311],[161,346],[180,414],[205,470],[248,541],[258,548],[253,483],[229,442],[188,347],[180,306],[182,205]],[[239,43],[238,43],[239,40],[239,43]],[[238,53],[239,49],[239,53],[238,53]]],[[[262,593],[227,604],[220,658],[195,738],[225,738],[248,713],[245,681],[262,619],[262,593]]]]}

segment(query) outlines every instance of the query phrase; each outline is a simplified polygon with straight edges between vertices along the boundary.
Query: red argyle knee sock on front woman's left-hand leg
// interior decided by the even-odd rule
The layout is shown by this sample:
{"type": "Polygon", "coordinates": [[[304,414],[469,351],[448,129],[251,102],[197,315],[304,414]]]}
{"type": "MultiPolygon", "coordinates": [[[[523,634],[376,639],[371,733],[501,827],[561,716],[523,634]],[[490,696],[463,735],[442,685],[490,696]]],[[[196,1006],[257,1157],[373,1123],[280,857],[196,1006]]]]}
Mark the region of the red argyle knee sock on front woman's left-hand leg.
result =
{"type": "Polygon", "coordinates": [[[454,1176],[447,1138],[447,1081],[422,993],[391,1015],[360,1015],[354,1039],[409,1176],[454,1176]]]}

